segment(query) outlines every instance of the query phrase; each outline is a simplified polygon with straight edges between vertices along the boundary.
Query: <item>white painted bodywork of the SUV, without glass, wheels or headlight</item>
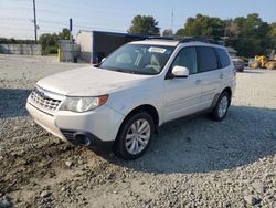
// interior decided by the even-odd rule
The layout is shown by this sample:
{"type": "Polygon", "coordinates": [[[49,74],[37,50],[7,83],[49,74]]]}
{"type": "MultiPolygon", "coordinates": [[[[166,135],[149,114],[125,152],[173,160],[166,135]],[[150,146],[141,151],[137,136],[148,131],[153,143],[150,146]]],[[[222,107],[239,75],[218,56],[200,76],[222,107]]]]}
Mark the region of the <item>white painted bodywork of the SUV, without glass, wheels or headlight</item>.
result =
{"type": "Polygon", "coordinates": [[[192,42],[179,45],[176,41],[138,41],[129,44],[161,44],[177,48],[162,72],[157,75],[129,74],[89,66],[40,80],[36,83],[39,87],[65,97],[108,94],[108,100],[103,106],[89,112],[56,110],[49,113],[29,97],[26,108],[34,121],[62,139],[65,139],[62,129],[73,129],[89,132],[102,141],[109,142],[115,141],[125,117],[138,106],[153,106],[158,112],[160,126],[166,122],[210,108],[214,97],[225,87],[230,87],[234,93],[233,63],[225,69],[192,74],[185,79],[166,79],[181,49],[210,46],[208,43],[192,42]]]}

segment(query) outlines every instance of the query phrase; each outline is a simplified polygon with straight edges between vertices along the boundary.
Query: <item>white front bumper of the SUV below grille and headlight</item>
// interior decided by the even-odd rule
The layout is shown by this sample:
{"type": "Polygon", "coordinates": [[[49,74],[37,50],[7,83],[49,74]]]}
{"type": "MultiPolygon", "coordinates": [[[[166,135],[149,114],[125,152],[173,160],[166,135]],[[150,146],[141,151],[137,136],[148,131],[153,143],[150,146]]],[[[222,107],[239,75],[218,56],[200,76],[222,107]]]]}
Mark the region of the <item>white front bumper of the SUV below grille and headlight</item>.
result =
{"type": "Polygon", "coordinates": [[[70,111],[49,113],[35,106],[30,98],[26,110],[40,126],[61,139],[74,143],[76,133],[83,133],[92,139],[92,146],[114,142],[125,117],[106,105],[85,113],[70,111]]]}

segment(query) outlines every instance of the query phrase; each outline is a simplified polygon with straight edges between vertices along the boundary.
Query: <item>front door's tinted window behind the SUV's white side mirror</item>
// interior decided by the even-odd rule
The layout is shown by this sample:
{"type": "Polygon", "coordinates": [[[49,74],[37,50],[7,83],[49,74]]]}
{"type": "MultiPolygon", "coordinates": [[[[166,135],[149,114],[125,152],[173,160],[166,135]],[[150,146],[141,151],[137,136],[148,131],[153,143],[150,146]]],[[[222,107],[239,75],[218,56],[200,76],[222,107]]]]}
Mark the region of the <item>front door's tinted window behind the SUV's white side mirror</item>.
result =
{"type": "Polygon", "coordinates": [[[172,67],[176,65],[187,67],[189,70],[189,74],[195,74],[198,72],[195,48],[182,49],[173,61],[172,67]]]}

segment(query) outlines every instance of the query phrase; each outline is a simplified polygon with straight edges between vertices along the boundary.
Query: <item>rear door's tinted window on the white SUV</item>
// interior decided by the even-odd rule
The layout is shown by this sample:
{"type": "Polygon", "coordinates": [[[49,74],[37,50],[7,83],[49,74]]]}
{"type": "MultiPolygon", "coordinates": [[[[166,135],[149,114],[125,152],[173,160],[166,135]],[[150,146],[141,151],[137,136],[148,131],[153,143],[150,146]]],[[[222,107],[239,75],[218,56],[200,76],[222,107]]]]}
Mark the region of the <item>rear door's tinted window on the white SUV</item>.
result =
{"type": "Polygon", "coordinates": [[[198,48],[199,72],[208,72],[219,69],[216,55],[213,48],[198,48]]]}

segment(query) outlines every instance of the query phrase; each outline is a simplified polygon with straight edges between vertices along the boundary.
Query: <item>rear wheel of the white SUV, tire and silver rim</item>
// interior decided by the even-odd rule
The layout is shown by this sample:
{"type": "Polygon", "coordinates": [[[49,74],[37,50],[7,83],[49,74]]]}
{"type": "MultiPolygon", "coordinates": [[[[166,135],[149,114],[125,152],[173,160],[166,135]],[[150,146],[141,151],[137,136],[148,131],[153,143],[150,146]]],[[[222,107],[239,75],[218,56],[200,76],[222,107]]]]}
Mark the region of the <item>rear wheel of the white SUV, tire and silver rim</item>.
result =
{"type": "Polygon", "coordinates": [[[224,91],[219,97],[215,107],[210,113],[211,118],[216,122],[223,121],[227,114],[230,103],[231,103],[230,94],[224,91]]]}

